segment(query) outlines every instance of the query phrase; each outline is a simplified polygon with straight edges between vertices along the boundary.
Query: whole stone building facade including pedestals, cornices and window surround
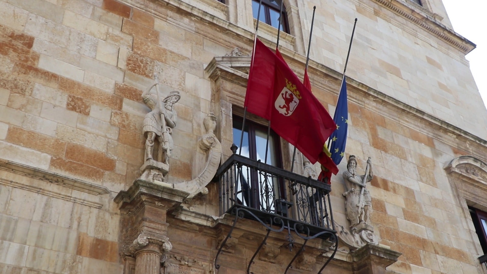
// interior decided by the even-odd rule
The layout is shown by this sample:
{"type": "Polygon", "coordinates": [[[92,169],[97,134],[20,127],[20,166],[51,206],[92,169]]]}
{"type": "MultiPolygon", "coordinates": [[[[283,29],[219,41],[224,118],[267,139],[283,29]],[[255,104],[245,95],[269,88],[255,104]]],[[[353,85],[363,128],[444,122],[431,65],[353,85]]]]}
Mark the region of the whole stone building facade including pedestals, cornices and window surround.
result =
{"type": "MultiPolygon", "coordinates": [[[[487,110],[465,59],[475,45],[441,0],[284,0],[280,50],[301,78],[314,5],[308,72],[332,114],[358,18],[346,158],[362,174],[374,163],[377,238],[347,239],[333,176],[339,243],[322,273],[487,273],[470,214],[487,212],[487,110]]],[[[0,0],[0,273],[284,273],[304,240],[290,250],[285,232],[267,238],[242,219],[224,241],[234,216],[214,179],[244,112],[255,24],[251,0],[0,0]],[[181,98],[169,172],[148,181],[142,94],[155,78],[181,98]]],[[[260,24],[270,48],[277,33],[260,24]]],[[[277,142],[290,170],[292,146],[277,142]]],[[[309,240],[288,273],[317,273],[332,250],[309,240]]]]}

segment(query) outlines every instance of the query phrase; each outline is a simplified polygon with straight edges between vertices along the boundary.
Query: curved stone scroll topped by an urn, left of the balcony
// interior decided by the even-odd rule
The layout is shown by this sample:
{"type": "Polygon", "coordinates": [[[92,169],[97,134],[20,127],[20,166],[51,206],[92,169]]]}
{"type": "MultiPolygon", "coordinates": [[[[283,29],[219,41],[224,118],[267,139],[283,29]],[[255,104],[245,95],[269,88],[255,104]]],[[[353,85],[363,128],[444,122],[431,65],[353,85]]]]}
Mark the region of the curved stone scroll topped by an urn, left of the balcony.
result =
{"type": "Polygon", "coordinates": [[[199,147],[207,154],[205,167],[196,178],[174,184],[174,188],[189,193],[186,200],[190,200],[195,195],[207,194],[206,185],[213,179],[220,165],[222,158],[222,145],[213,133],[216,128],[216,116],[208,114],[203,120],[206,134],[198,140],[199,147]]]}

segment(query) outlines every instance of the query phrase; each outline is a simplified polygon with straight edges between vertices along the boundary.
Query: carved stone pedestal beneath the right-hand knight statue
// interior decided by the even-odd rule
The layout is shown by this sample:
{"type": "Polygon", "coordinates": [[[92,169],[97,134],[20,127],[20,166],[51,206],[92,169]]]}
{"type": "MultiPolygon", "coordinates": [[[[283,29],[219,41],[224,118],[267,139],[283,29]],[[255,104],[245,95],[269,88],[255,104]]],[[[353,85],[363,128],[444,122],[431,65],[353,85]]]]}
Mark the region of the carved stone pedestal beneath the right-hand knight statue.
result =
{"type": "Polygon", "coordinates": [[[386,267],[402,253],[377,245],[366,244],[353,254],[354,274],[386,274],[386,267]]]}

